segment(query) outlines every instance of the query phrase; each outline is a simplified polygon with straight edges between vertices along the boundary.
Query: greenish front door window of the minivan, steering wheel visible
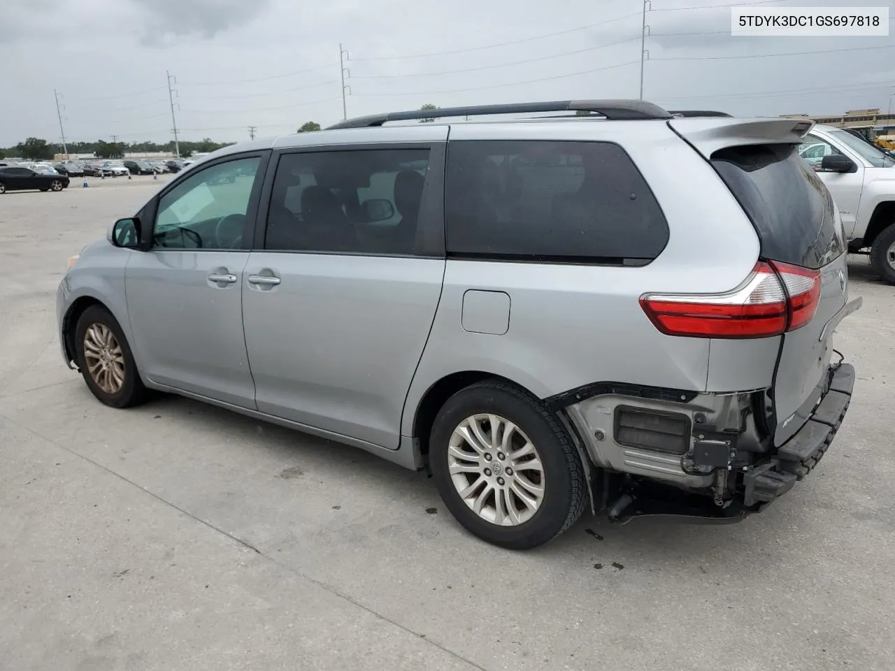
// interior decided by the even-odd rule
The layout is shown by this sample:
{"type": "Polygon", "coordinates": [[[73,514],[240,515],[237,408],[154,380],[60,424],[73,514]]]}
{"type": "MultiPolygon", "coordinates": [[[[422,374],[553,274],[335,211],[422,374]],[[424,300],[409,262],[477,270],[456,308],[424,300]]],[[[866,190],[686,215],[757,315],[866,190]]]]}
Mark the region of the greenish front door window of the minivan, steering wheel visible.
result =
{"type": "Polygon", "coordinates": [[[158,201],[152,246],[240,250],[259,157],[219,163],[191,174],[158,201]]]}

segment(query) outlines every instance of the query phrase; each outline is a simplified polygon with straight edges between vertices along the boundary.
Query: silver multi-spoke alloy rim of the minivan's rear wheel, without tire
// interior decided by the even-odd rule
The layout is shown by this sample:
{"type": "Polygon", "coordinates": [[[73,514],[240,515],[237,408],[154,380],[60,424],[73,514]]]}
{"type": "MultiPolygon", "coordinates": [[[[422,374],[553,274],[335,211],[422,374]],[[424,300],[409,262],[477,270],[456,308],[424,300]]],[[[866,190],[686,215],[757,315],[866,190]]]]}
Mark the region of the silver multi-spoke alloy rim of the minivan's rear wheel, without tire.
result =
{"type": "Polygon", "coordinates": [[[499,415],[461,421],[451,434],[447,466],[457,494],[487,522],[523,524],[543,503],[541,455],[521,429],[499,415]]]}

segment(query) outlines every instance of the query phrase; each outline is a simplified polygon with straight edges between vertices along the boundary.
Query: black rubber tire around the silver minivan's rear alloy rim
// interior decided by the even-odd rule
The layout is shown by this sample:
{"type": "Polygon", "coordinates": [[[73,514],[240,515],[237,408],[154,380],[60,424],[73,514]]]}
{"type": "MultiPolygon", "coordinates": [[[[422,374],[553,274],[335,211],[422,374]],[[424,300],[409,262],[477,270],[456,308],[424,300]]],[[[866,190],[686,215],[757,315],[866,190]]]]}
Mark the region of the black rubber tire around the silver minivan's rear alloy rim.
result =
{"type": "Polygon", "coordinates": [[[506,382],[485,380],[447,399],[432,425],[429,459],[447,510],[468,531],[502,548],[536,548],[566,531],[584,512],[584,465],[567,430],[538,399],[506,382]],[[536,447],[543,464],[541,505],[530,519],[515,526],[500,526],[473,512],[448,471],[447,450],[454,429],[472,415],[490,413],[516,424],[536,447]]]}

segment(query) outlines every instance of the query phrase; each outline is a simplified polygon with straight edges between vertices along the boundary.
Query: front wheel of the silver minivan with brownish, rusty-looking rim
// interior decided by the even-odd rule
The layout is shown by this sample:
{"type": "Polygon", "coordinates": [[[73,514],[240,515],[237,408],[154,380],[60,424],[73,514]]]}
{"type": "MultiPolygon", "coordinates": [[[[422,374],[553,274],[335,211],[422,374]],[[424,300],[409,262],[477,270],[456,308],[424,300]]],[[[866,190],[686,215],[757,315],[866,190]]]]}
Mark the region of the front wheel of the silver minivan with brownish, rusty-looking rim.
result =
{"type": "Polygon", "coordinates": [[[84,382],[102,403],[127,408],[146,399],[131,347],[106,308],[91,305],[84,310],[74,329],[74,342],[84,382]]]}

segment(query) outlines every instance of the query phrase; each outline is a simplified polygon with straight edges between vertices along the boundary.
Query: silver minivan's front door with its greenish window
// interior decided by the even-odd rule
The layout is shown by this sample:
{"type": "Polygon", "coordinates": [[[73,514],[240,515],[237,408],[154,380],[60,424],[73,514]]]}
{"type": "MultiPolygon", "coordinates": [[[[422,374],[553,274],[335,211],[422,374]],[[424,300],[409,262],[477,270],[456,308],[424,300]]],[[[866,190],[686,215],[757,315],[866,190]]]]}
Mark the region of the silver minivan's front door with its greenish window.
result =
{"type": "Polygon", "coordinates": [[[153,225],[152,247],[132,252],[125,289],[134,353],[152,382],[255,407],[241,287],[266,161],[242,155],[197,169],[143,223],[153,225]]]}

